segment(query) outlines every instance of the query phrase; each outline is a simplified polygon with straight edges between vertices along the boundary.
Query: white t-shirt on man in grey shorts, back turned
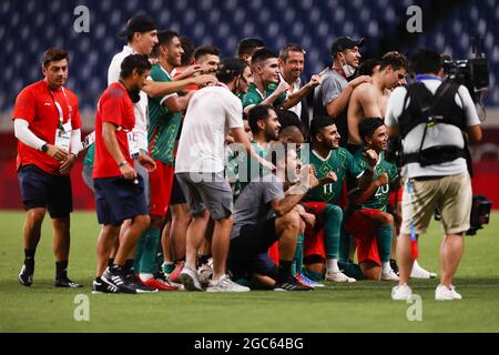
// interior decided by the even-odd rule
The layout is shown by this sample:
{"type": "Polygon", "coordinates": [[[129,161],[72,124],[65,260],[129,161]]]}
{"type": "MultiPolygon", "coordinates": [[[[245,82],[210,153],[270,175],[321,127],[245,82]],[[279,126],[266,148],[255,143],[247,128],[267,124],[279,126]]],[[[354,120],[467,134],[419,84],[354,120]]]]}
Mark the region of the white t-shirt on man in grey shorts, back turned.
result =
{"type": "Polygon", "coordinates": [[[218,173],[225,165],[225,136],[243,128],[243,104],[220,83],[198,90],[189,102],[175,159],[175,173],[218,173]]]}

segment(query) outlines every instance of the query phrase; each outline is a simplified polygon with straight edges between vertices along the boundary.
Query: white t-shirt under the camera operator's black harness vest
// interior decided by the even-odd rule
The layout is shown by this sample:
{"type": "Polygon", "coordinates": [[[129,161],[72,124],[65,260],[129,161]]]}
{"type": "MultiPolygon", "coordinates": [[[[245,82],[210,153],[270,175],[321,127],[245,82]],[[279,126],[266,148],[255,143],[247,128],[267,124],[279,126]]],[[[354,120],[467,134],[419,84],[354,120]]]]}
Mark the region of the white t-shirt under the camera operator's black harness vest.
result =
{"type": "MultiPolygon", "coordinates": [[[[428,90],[431,91],[432,94],[435,94],[438,87],[441,84],[441,80],[437,78],[425,79],[421,80],[421,82],[428,88],[428,90]]],[[[385,124],[387,126],[398,125],[398,118],[403,112],[403,104],[406,93],[406,88],[399,87],[394,90],[388,99],[385,114],[385,124]]],[[[475,103],[468,92],[468,89],[460,85],[458,93],[456,93],[455,101],[460,108],[464,108],[467,126],[480,124],[475,103]]],[[[410,99],[407,100],[407,106],[409,105],[409,102],[410,99]]],[[[425,123],[420,123],[406,135],[403,140],[404,153],[416,153],[419,151],[424,131],[425,123]]],[[[438,123],[428,128],[422,149],[436,145],[456,145],[464,148],[465,141],[462,139],[461,130],[447,123],[438,123]]],[[[460,174],[466,171],[466,160],[464,158],[458,158],[451,162],[428,165],[425,168],[421,168],[419,163],[409,163],[401,170],[401,175],[405,178],[448,176],[460,174]]]]}

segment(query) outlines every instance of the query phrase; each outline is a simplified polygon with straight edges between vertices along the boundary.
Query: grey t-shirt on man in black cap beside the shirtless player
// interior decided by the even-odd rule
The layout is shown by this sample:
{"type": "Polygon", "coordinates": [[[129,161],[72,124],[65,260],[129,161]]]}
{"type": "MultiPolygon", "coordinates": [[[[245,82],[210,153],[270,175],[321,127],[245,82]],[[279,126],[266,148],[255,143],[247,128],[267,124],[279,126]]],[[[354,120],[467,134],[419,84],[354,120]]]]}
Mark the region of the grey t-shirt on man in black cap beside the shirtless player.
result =
{"type": "MultiPolygon", "coordinates": [[[[329,69],[323,75],[320,84],[314,91],[314,118],[319,115],[328,116],[326,105],[336,100],[343,90],[348,85],[348,81],[336,70],[329,69]]],[[[335,118],[336,128],[340,139],[339,145],[345,146],[348,141],[347,111],[345,110],[335,118]]]]}

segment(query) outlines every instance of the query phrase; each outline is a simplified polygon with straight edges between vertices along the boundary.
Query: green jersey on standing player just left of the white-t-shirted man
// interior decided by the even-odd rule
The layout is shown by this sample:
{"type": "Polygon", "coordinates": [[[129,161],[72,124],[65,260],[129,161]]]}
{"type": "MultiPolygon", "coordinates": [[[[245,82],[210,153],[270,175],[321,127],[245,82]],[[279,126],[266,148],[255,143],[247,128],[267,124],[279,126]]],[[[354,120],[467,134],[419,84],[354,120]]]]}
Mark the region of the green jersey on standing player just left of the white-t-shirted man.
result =
{"type": "MultiPolygon", "coordinates": [[[[155,64],[151,69],[151,78],[159,82],[172,81],[166,71],[155,64]]],[[[182,123],[182,112],[172,112],[164,104],[166,97],[149,98],[147,140],[150,155],[165,164],[175,163],[175,140],[182,123]]]]}

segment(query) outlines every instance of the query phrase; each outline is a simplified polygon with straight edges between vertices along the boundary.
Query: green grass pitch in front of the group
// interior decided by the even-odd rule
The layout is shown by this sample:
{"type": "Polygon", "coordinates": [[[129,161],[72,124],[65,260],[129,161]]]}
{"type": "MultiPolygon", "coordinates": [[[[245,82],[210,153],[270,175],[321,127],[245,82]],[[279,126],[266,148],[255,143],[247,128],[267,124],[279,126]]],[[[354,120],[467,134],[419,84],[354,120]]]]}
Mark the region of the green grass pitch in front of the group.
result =
{"type": "MultiPolygon", "coordinates": [[[[50,220],[42,229],[34,284],[23,287],[23,212],[0,213],[0,332],[499,332],[499,213],[466,251],[455,284],[462,301],[437,302],[438,280],[416,281],[415,304],[390,300],[393,282],[333,284],[308,293],[208,294],[165,292],[147,295],[91,293],[99,226],[94,213],[72,214],[69,274],[80,290],[52,287],[54,263],[50,220]],[[75,321],[89,300],[89,321],[75,321]],[[77,300],[75,300],[77,297],[77,300]],[[77,303],[75,303],[77,301],[77,303]],[[77,311],[77,312],[75,312],[77,311]]],[[[432,223],[420,239],[420,265],[438,272],[441,230],[432,223]]]]}

